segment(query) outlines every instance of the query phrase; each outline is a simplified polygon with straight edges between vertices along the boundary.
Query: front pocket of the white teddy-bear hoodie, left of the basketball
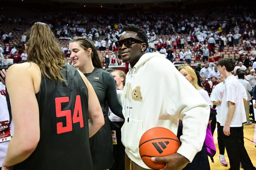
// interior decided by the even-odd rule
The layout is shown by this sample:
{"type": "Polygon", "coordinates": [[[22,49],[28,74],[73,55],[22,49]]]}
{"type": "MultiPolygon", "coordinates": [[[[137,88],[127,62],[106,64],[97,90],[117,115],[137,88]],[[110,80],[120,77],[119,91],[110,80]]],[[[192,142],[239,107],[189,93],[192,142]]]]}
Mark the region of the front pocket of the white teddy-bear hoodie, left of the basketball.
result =
{"type": "Polygon", "coordinates": [[[142,121],[129,119],[129,122],[125,122],[121,129],[122,131],[122,143],[124,147],[139,154],[139,142],[142,136],[142,121]]]}

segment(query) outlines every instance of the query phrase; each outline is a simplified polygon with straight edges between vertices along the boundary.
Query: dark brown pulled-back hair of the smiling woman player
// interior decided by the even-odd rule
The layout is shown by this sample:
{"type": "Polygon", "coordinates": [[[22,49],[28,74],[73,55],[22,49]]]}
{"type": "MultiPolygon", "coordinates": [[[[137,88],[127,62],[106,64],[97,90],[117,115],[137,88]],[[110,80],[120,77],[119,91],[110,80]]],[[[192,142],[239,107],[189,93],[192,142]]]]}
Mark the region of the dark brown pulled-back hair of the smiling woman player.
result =
{"type": "Polygon", "coordinates": [[[95,48],[92,41],[90,41],[88,38],[85,38],[85,37],[77,37],[71,40],[69,43],[71,42],[80,42],[81,47],[85,51],[88,51],[88,48],[92,48],[92,53],[91,53],[92,65],[97,68],[102,68],[97,49],[95,48]]]}

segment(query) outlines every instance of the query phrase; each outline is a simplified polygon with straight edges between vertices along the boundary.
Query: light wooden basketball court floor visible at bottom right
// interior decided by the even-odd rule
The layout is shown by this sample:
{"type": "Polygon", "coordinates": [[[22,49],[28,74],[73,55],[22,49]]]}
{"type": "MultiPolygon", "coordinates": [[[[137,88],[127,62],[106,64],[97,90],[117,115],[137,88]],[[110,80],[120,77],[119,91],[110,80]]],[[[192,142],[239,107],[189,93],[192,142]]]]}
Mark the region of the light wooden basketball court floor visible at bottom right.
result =
{"type": "MultiPolygon", "coordinates": [[[[217,152],[215,156],[213,157],[214,163],[211,163],[211,159],[209,158],[210,166],[212,170],[225,170],[230,168],[229,166],[229,160],[228,155],[225,150],[225,157],[226,161],[228,163],[228,166],[222,166],[220,165],[220,162],[218,160],[218,157],[220,156],[219,148],[218,148],[218,141],[217,141],[217,129],[215,130],[214,134],[214,143],[217,149],[217,152]]],[[[244,146],[248,152],[249,157],[252,160],[253,166],[256,167],[256,123],[252,123],[251,125],[244,125],[244,146]]],[[[240,168],[240,170],[243,170],[243,168],[240,168]]]]}

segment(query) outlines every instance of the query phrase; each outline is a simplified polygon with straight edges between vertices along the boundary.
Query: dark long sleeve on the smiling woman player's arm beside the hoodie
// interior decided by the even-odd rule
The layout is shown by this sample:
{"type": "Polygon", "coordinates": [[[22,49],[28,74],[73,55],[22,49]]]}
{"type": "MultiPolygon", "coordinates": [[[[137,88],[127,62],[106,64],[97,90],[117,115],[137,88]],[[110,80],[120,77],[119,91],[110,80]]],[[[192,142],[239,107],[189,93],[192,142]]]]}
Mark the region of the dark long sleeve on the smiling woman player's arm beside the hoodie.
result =
{"type": "Polygon", "coordinates": [[[109,73],[104,73],[104,72],[102,76],[103,76],[104,84],[107,86],[106,100],[108,102],[108,106],[110,110],[118,117],[124,119],[124,115],[122,113],[123,108],[119,104],[119,101],[117,98],[116,82],[113,76],[109,73]]]}

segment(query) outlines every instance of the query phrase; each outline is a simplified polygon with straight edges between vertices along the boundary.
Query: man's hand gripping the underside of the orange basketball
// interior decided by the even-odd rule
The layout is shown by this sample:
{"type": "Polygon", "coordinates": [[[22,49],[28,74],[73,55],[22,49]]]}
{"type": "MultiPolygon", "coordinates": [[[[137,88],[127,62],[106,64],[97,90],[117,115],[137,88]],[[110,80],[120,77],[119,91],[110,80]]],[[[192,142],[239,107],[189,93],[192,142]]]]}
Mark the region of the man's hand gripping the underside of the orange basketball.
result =
{"type": "Polygon", "coordinates": [[[189,163],[189,160],[179,153],[173,153],[172,155],[163,157],[153,157],[151,160],[154,162],[166,163],[166,166],[160,170],[180,170],[189,163]]]}

